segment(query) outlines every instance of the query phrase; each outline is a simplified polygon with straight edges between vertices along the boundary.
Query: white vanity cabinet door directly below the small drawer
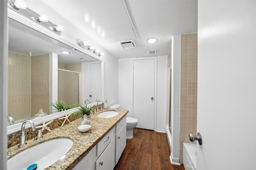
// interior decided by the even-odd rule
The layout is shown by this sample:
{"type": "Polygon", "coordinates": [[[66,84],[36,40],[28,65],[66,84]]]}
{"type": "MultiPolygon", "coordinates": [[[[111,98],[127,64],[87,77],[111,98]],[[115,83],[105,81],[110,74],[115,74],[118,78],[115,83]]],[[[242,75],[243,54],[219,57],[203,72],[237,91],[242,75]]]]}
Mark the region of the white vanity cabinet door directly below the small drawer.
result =
{"type": "Polygon", "coordinates": [[[115,166],[115,144],[111,141],[95,162],[96,170],[113,170],[115,166]]]}

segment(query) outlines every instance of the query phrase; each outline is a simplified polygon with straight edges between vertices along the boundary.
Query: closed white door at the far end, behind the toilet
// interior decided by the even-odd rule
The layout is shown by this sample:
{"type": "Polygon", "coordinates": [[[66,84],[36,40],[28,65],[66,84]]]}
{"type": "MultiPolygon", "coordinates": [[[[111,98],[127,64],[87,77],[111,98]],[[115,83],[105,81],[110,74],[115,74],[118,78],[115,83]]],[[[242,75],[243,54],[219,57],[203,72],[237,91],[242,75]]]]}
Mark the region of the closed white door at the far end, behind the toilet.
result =
{"type": "Polygon", "coordinates": [[[138,120],[136,127],[154,130],[156,59],[134,60],[133,65],[133,114],[138,120]]]}

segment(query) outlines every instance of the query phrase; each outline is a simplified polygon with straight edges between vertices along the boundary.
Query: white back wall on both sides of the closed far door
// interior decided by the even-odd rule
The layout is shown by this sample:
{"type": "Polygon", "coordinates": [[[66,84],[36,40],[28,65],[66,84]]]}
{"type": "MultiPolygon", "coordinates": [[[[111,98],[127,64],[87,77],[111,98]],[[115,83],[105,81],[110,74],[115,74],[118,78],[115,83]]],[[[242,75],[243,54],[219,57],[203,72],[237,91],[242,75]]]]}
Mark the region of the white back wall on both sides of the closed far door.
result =
{"type": "MultiPolygon", "coordinates": [[[[133,117],[133,60],[134,58],[118,60],[118,102],[122,109],[129,110],[129,117],[133,117]]],[[[166,70],[167,56],[158,56],[156,130],[160,132],[166,131],[166,70]]]]}

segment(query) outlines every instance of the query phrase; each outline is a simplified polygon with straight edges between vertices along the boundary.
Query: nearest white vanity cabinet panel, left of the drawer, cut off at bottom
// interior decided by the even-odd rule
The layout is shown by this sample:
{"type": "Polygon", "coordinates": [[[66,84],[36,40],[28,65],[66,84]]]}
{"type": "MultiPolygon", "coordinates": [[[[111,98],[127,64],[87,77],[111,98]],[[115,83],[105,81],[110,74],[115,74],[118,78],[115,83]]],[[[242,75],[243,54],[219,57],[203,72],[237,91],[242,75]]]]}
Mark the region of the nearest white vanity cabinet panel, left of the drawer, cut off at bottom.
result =
{"type": "Polygon", "coordinates": [[[95,170],[96,146],[72,170],[95,170]]]}

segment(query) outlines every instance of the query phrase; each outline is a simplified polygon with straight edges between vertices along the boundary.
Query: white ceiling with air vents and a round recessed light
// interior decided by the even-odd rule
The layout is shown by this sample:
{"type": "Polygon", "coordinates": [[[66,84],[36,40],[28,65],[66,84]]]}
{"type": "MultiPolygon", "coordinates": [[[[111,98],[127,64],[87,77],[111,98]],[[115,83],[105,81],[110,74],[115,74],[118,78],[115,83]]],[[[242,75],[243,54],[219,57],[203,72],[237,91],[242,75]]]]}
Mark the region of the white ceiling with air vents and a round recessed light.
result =
{"type": "Polygon", "coordinates": [[[172,35],[197,32],[197,0],[46,0],[44,3],[117,58],[150,56],[148,50],[152,49],[157,49],[156,55],[170,55],[172,35]],[[148,44],[149,37],[158,41],[148,44]],[[131,39],[136,47],[123,49],[120,41],[131,39]]]}

